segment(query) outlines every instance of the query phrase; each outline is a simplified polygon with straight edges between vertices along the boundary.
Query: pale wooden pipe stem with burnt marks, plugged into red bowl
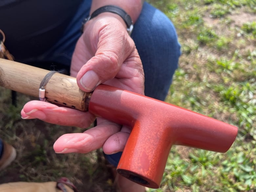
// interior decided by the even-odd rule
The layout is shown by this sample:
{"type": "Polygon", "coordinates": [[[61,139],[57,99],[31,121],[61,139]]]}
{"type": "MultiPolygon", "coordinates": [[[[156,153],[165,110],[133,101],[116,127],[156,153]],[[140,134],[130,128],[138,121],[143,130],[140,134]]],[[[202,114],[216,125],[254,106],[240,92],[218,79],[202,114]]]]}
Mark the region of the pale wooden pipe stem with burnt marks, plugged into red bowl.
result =
{"type": "MultiPolygon", "coordinates": [[[[39,86],[50,71],[30,65],[0,59],[0,86],[19,93],[38,97],[39,86]]],[[[88,111],[91,93],[79,89],[76,78],[55,73],[45,86],[49,102],[88,111]]]]}

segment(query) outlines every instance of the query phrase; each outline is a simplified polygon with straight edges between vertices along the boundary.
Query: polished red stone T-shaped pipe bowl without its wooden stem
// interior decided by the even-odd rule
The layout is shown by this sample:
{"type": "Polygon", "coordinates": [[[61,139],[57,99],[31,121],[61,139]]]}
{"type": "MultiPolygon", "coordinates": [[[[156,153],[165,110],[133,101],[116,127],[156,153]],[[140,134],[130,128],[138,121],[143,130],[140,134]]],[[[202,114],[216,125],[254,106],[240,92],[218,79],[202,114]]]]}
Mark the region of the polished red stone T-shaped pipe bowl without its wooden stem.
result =
{"type": "Polygon", "coordinates": [[[159,188],[172,145],[224,153],[238,131],[222,121],[107,85],[95,89],[89,111],[132,127],[117,172],[150,188],[159,188]]]}

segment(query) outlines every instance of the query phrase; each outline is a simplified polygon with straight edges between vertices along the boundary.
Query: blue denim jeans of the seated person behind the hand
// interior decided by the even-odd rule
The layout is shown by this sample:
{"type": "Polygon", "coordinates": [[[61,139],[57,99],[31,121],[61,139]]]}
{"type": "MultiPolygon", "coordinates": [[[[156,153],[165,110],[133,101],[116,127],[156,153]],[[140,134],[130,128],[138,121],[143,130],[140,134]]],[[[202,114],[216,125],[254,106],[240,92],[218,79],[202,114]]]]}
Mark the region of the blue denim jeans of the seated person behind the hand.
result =
{"type": "MultiPolygon", "coordinates": [[[[71,24],[55,46],[47,53],[32,60],[57,62],[70,66],[75,44],[81,35],[81,23],[89,15],[91,2],[85,0],[77,11],[71,24]]],[[[176,30],[169,18],[148,3],[144,3],[142,12],[131,34],[139,52],[145,73],[145,95],[164,100],[172,76],[178,68],[181,54],[176,30]]],[[[106,155],[106,159],[117,166],[121,153],[106,155]]]]}

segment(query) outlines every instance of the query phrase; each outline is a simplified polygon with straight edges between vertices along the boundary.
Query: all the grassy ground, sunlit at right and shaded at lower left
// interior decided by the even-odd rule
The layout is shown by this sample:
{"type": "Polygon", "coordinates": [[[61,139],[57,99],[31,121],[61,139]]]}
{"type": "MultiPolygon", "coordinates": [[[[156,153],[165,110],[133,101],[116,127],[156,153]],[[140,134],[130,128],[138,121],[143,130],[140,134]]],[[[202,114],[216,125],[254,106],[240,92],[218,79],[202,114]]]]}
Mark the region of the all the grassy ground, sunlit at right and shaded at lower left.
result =
{"type": "MultiPolygon", "coordinates": [[[[148,191],[256,191],[256,1],[148,2],[173,21],[182,46],[166,101],[239,128],[226,153],[173,146],[160,188],[148,191]]],[[[0,134],[18,149],[16,164],[8,171],[18,170],[22,181],[67,176],[90,191],[110,191],[101,151],[55,154],[57,137],[80,130],[37,120],[24,123],[19,111],[29,98],[19,99],[23,103],[11,107],[8,90],[0,92],[0,109],[7,109],[0,113],[0,134]]]]}

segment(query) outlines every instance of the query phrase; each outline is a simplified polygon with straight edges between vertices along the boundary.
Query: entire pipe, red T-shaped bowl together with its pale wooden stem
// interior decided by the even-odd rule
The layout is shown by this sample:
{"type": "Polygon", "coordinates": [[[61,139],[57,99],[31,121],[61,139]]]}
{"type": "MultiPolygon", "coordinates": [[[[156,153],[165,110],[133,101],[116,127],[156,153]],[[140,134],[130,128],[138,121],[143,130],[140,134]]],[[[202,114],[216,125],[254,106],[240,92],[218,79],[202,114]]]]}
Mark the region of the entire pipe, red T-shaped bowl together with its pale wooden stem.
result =
{"type": "MultiPolygon", "coordinates": [[[[38,97],[49,71],[0,59],[0,86],[38,97]]],[[[226,152],[237,127],[187,109],[108,85],[94,92],[79,89],[76,79],[55,73],[45,86],[48,101],[89,110],[118,124],[132,127],[117,172],[150,188],[159,188],[172,145],[226,152]]]]}

